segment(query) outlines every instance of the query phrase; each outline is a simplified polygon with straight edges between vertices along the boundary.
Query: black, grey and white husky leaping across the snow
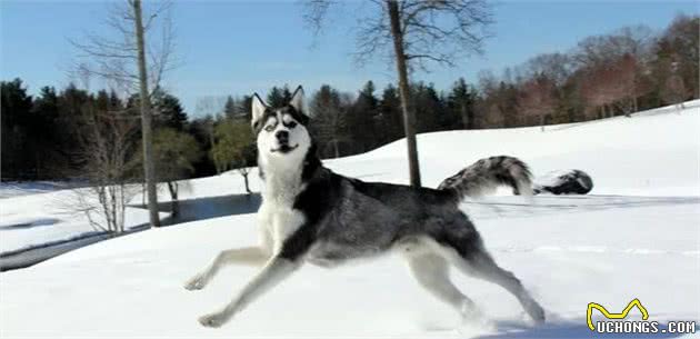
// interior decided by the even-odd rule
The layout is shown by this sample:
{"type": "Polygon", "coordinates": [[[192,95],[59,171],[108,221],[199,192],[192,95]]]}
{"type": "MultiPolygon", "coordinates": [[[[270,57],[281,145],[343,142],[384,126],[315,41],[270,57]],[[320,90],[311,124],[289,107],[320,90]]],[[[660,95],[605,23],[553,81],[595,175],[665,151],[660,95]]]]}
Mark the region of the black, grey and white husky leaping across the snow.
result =
{"type": "Polygon", "coordinates": [[[531,193],[524,163],[510,157],[490,158],[476,175],[462,172],[441,189],[364,182],[323,167],[307,129],[309,119],[301,87],[281,108],[268,107],[253,94],[252,128],[264,181],[258,212],[261,243],[222,251],[186,288],[202,289],[223,265],[262,265],[262,269],[223,309],[201,317],[203,326],[222,326],[304,262],[332,267],[390,250],[406,257],[420,286],[468,319],[480,313],[450,281],[450,265],[501,286],[536,322],[544,321],[542,308],[511,272],[496,265],[458,208],[463,197],[502,183],[521,195],[531,193]]]}

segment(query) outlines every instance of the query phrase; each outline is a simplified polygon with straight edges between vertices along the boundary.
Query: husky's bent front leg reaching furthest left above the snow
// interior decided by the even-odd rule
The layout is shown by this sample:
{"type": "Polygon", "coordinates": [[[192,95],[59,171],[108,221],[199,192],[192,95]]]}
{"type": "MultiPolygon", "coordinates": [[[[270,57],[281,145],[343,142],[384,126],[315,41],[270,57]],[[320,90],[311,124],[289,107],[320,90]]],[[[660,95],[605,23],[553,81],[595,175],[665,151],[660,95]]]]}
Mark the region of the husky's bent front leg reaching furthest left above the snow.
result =
{"type": "Polygon", "coordinates": [[[213,279],[219,269],[226,265],[239,263],[261,266],[270,258],[270,251],[261,247],[234,248],[219,252],[200,273],[184,283],[188,290],[200,290],[213,279]]]}

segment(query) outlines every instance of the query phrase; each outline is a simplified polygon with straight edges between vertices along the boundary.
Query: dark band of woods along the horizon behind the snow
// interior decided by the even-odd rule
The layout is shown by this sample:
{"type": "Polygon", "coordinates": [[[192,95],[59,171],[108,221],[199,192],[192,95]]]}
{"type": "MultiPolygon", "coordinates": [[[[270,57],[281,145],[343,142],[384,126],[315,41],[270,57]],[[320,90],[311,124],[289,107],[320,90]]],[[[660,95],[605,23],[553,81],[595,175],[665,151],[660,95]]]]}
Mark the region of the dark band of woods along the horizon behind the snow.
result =
{"type": "MultiPolygon", "coordinates": [[[[700,18],[680,14],[654,33],[643,26],[589,37],[566,53],[537,56],[499,77],[481,72],[447,89],[409,86],[416,131],[508,128],[578,122],[698,98],[700,18]]],[[[142,180],[139,96],[90,92],[69,84],[28,94],[20,79],[2,81],[2,180],[80,179],[96,153],[120,152],[120,176],[142,180]],[[104,128],[110,126],[110,128],[104,128]],[[118,131],[118,132],[117,132],[118,131]],[[101,151],[87,140],[103,141],[101,151]],[[110,144],[116,143],[119,144],[110,144]],[[119,150],[110,147],[119,146],[119,150]]],[[[284,104],[287,86],[268,91],[284,104]]],[[[256,163],[249,96],[226,98],[204,117],[188,117],[179,99],[161,88],[149,96],[158,181],[177,196],[177,180],[256,163]]],[[[357,93],[323,84],[310,94],[310,129],[323,158],[369,151],[404,137],[400,92],[373,81],[357,93]]],[[[93,142],[94,143],[94,142],[93,142]]],[[[106,169],[109,170],[109,169],[106,169]]]]}

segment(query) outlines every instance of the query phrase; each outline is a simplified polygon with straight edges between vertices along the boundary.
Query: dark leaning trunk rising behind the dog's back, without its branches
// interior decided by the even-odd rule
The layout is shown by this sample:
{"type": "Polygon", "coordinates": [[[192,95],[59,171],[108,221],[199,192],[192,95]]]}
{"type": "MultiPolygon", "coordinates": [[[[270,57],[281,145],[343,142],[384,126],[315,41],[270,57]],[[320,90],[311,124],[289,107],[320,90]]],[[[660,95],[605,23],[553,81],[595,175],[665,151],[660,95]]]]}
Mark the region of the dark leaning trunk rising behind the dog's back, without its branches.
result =
{"type": "Polygon", "coordinates": [[[416,117],[412,108],[409,107],[410,93],[408,81],[408,68],[406,64],[406,52],[403,50],[403,31],[399,17],[399,3],[397,0],[387,0],[389,19],[391,20],[391,36],[393,37],[393,49],[397,58],[397,72],[399,73],[399,93],[401,97],[401,110],[403,111],[403,130],[408,143],[409,175],[412,187],[420,187],[420,167],[418,163],[418,149],[416,146],[416,117]]]}

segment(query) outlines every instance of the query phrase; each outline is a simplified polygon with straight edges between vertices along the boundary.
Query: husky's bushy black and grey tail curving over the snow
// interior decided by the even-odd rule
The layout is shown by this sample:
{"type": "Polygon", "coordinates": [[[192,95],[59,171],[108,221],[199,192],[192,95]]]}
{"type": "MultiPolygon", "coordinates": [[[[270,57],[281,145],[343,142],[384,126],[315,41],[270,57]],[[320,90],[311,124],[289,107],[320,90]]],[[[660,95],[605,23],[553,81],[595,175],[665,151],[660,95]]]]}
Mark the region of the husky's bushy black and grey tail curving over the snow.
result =
{"type": "Polygon", "coordinates": [[[439,190],[454,190],[460,199],[480,197],[499,186],[510,186],[513,195],[532,195],[532,175],[518,158],[500,156],[481,159],[457,175],[444,179],[439,190]]]}

